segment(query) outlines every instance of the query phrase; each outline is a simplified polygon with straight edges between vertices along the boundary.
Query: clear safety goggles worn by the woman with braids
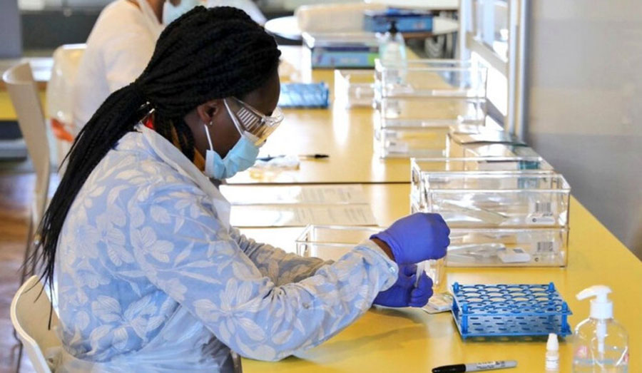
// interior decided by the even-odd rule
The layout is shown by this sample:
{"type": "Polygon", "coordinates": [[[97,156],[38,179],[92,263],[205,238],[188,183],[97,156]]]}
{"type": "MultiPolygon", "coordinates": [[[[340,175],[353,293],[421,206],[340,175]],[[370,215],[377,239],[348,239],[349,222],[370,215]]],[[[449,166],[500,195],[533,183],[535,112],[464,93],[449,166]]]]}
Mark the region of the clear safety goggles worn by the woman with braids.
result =
{"type": "Polygon", "coordinates": [[[271,116],[266,116],[235,97],[224,98],[223,103],[238,132],[241,135],[245,133],[252,135],[255,145],[264,143],[267,136],[270,136],[283,121],[283,113],[278,107],[274,109],[271,116]]]}

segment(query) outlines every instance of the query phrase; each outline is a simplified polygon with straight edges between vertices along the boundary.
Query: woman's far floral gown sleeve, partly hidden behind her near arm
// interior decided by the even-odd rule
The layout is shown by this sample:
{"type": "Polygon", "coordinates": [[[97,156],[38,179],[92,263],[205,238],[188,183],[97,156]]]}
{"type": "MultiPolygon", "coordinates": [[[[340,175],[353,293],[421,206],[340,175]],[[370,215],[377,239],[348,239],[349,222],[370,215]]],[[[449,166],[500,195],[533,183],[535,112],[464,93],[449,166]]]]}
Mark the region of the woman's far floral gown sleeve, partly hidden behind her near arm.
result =
{"type": "Polygon", "coordinates": [[[291,252],[256,242],[241,235],[239,230],[232,228],[230,234],[238,243],[241,250],[248,255],[262,275],[270,277],[275,285],[284,285],[310,277],[323,265],[332,261],[324,261],[317,257],[302,257],[291,252]]]}

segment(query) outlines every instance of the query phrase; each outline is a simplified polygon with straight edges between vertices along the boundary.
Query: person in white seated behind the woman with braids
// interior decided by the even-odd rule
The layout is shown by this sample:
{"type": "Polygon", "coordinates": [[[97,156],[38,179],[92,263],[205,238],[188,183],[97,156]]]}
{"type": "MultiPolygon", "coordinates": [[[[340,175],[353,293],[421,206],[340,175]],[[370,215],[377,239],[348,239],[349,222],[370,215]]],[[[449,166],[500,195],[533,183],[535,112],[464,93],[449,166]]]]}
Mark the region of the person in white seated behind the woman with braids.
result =
{"type": "Polygon", "coordinates": [[[101,11],[78,66],[76,133],[107,96],[141,75],[164,25],[198,4],[200,0],[116,0],[101,11]]]}

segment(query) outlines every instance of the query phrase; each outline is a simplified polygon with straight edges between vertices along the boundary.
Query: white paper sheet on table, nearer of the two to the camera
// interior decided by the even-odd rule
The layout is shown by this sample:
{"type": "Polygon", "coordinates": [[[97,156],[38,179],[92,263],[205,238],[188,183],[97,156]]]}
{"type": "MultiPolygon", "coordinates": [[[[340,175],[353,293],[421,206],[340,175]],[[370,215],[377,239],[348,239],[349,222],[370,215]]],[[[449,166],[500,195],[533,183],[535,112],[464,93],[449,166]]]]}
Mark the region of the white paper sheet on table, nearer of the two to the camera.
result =
{"type": "Polygon", "coordinates": [[[233,205],[235,227],[297,227],[317,225],[377,225],[368,204],[351,205],[233,205]]]}

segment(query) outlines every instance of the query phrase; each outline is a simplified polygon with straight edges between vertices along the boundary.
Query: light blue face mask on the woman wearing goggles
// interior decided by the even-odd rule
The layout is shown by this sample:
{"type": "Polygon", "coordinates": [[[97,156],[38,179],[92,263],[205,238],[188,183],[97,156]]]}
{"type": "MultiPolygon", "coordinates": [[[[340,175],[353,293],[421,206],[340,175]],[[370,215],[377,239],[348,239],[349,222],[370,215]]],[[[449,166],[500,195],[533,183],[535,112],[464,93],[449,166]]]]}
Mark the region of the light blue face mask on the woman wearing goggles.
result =
{"type": "Polygon", "coordinates": [[[205,125],[205,133],[210,143],[210,149],[205,154],[205,175],[208,178],[217,180],[231,178],[236,173],[252,167],[256,162],[259,147],[254,145],[256,138],[253,139],[250,133],[243,134],[225,158],[220,158],[220,155],[215,152],[207,125],[205,125]]]}

